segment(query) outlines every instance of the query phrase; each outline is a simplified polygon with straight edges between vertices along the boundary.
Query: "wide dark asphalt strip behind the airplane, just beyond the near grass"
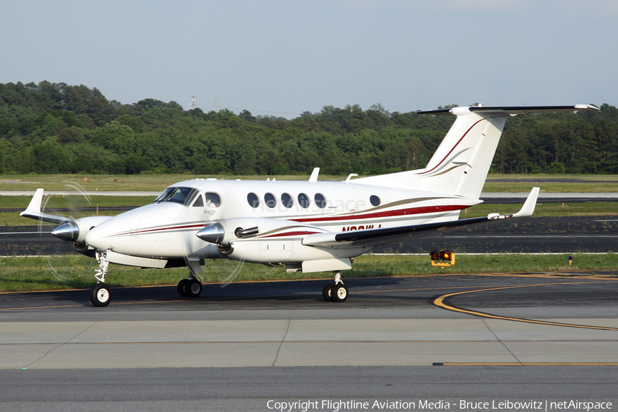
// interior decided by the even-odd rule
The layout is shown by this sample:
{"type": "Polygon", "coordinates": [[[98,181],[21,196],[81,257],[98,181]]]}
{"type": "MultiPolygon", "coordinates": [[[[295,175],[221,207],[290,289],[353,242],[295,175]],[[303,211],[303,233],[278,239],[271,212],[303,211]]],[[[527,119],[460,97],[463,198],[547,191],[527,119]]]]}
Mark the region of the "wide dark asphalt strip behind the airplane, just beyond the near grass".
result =
{"type": "MultiPolygon", "coordinates": [[[[0,228],[2,255],[61,255],[76,253],[70,242],[51,236],[55,226],[0,228]]],[[[374,253],[577,253],[618,252],[618,216],[526,218],[479,225],[386,244],[374,253]]]]}

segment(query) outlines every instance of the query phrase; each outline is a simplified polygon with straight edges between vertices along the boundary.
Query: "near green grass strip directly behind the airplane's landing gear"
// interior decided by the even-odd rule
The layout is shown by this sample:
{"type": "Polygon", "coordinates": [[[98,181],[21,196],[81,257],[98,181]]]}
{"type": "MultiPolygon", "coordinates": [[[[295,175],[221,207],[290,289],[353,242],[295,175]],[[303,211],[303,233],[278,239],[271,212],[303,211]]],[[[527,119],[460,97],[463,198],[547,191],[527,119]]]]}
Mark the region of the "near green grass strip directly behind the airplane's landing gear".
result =
{"type": "MultiPolygon", "coordinates": [[[[0,258],[0,292],[90,288],[97,264],[80,255],[52,258],[0,258]]],[[[429,256],[363,255],[354,259],[345,277],[432,275],[441,273],[569,273],[598,272],[618,267],[618,254],[573,255],[457,255],[450,268],[431,266],[429,256]]],[[[246,282],[285,279],[326,279],[330,273],[286,273],[284,266],[240,264],[230,260],[207,261],[203,282],[246,282]]],[[[187,277],[186,268],[140,269],[110,265],[106,283],[113,287],[175,285],[187,277]]]]}

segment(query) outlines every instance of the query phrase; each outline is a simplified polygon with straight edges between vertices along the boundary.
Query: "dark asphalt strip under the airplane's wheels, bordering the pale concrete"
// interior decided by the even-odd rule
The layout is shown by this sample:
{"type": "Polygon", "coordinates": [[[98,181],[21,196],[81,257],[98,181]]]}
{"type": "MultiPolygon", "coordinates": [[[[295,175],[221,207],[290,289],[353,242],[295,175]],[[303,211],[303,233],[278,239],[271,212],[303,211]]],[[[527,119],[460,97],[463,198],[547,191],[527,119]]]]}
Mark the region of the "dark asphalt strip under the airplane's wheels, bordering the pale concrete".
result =
{"type": "MultiPolygon", "coordinates": [[[[113,282],[110,277],[109,282],[113,282]]],[[[618,317],[618,271],[551,275],[434,275],[347,279],[343,304],[321,296],[329,280],[204,284],[197,298],[181,298],[176,286],[119,288],[110,283],[112,303],[94,308],[89,290],[0,295],[4,321],[173,320],[173,319],[459,319],[469,315],[433,305],[447,293],[459,308],[484,312],[508,308],[511,317],[618,317]],[[524,286],[495,289],[503,286],[524,286]],[[568,316],[567,316],[568,315],[568,316]]]]}

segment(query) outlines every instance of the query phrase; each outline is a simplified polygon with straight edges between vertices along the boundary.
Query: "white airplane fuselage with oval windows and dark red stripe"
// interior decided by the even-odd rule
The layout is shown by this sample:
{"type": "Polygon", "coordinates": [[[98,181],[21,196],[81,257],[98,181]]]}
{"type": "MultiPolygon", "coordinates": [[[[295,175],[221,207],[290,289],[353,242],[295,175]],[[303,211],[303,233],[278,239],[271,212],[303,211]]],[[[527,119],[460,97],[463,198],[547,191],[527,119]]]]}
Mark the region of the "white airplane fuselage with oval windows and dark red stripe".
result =
{"type": "MultiPolygon", "coordinates": [[[[253,225],[268,227],[247,238],[230,235],[237,250],[253,251],[245,253],[243,260],[300,262],[353,257],[367,250],[319,251],[302,246],[300,241],[312,233],[457,220],[461,209],[478,203],[481,201],[439,192],[354,181],[195,179],[171,185],[150,205],[102,222],[89,231],[86,242],[95,249],[145,258],[221,258],[225,255],[221,248],[195,234],[215,222],[231,222],[231,232],[253,225]]],[[[234,258],[233,254],[228,257],[234,258]]]]}

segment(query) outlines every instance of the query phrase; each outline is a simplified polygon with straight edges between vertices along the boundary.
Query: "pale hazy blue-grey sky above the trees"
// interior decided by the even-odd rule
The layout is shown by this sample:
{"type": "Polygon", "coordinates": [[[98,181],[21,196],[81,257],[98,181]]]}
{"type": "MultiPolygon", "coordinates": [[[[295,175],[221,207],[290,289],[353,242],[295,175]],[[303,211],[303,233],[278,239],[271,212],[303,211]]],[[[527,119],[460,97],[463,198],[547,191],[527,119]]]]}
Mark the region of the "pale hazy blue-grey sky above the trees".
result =
{"type": "Polygon", "coordinates": [[[5,0],[0,27],[1,83],[123,104],[618,106],[617,0],[5,0]]]}

